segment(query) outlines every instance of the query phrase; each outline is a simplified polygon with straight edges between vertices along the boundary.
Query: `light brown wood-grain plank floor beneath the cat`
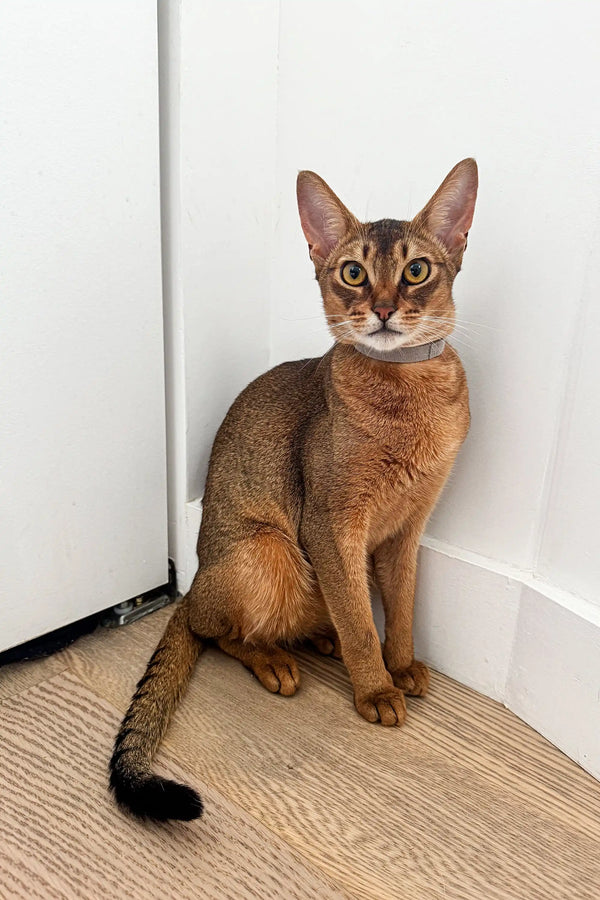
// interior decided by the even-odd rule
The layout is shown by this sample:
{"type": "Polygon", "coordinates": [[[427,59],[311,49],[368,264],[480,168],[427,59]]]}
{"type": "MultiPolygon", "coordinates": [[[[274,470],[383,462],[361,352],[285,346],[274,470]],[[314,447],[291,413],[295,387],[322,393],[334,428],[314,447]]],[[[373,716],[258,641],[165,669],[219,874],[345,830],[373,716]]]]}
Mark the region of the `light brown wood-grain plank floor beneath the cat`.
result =
{"type": "Polygon", "coordinates": [[[498,704],[434,675],[402,729],[343,666],[293,698],[208,650],[157,759],[203,819],[143,825],[106,766],[168,610],[0,669],[0,898],[598,900],[600,785],[498,704]]]}

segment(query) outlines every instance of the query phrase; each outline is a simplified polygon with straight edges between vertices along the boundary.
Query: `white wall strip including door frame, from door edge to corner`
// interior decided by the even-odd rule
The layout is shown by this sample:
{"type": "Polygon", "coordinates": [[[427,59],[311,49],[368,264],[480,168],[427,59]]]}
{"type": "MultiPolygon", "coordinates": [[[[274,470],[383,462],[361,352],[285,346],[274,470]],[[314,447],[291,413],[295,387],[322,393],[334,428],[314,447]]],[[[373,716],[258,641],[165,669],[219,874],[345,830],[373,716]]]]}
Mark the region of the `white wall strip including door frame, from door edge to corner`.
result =
{"type": "Polygon", "coordinates": [[[171,554],[225,411],[269,366],[277,33],[272,0],[159,0],[171,554]]]}

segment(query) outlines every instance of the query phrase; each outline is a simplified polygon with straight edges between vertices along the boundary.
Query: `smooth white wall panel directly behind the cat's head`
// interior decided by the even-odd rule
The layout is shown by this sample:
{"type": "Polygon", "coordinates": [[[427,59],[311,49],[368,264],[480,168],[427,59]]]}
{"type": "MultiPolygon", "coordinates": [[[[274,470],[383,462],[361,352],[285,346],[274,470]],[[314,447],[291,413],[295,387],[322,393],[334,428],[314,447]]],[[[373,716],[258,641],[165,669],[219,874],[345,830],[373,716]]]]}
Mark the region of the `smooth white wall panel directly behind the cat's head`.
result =
{"type": "Polygon", "coordinates": [[[408,218],[475,156],[481,190],[455,290],[459,320],[477,323],[456,336],[473,428],[429,533],[531,569],[600,199],[600,32],[586,3],[415,11],[282,4],[272,362],[328,346],[297,170],[314,168],[359,217],[408,218]]]}

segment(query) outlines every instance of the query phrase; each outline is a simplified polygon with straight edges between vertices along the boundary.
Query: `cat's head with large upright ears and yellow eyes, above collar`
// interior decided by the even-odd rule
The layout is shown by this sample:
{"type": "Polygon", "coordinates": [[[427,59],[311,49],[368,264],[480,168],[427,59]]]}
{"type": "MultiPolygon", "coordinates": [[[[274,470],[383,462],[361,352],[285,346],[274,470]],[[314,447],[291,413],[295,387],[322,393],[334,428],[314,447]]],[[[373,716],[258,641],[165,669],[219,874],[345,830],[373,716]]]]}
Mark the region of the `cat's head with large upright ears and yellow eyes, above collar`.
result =
{"type": "Polygon", "coordinates": [[[336,341],[386,351],[452,331],[476,196],[477,165],[463,159],[411,222],[362,223],[322,178],[300,172],[302,230],[336,341]]]}

